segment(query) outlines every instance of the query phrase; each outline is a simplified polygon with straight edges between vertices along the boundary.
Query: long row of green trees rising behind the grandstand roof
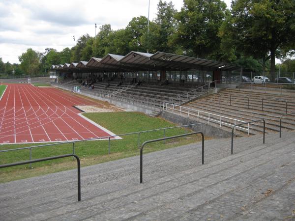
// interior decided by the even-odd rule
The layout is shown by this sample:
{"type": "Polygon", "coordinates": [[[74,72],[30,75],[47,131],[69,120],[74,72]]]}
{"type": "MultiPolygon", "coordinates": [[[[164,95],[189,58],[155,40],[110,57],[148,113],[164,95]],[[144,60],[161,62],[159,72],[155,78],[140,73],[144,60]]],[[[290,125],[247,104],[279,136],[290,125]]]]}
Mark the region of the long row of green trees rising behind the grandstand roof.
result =
{"type": "MultiPolygon", "coordinates": [[[[159,0],[149,28],[145,16],[132,18],[118,30],[101,25],[96,36],[79,37],[75,48],[60,52],[47,48],[43,53],[28,49],[13,70],[44,73],[54,64],[88,61],[108,53],[161,51],[233,62],[256,72],[269,68],[274,78],[275,57],[295,54],[294,24],[294,0],[233,0],[231,9],[222,0],[183,0],[178,12],[172,1],[159,0]]],[[[10,67],[0,60],[0,72],[11,73],[10,67]]]]}

